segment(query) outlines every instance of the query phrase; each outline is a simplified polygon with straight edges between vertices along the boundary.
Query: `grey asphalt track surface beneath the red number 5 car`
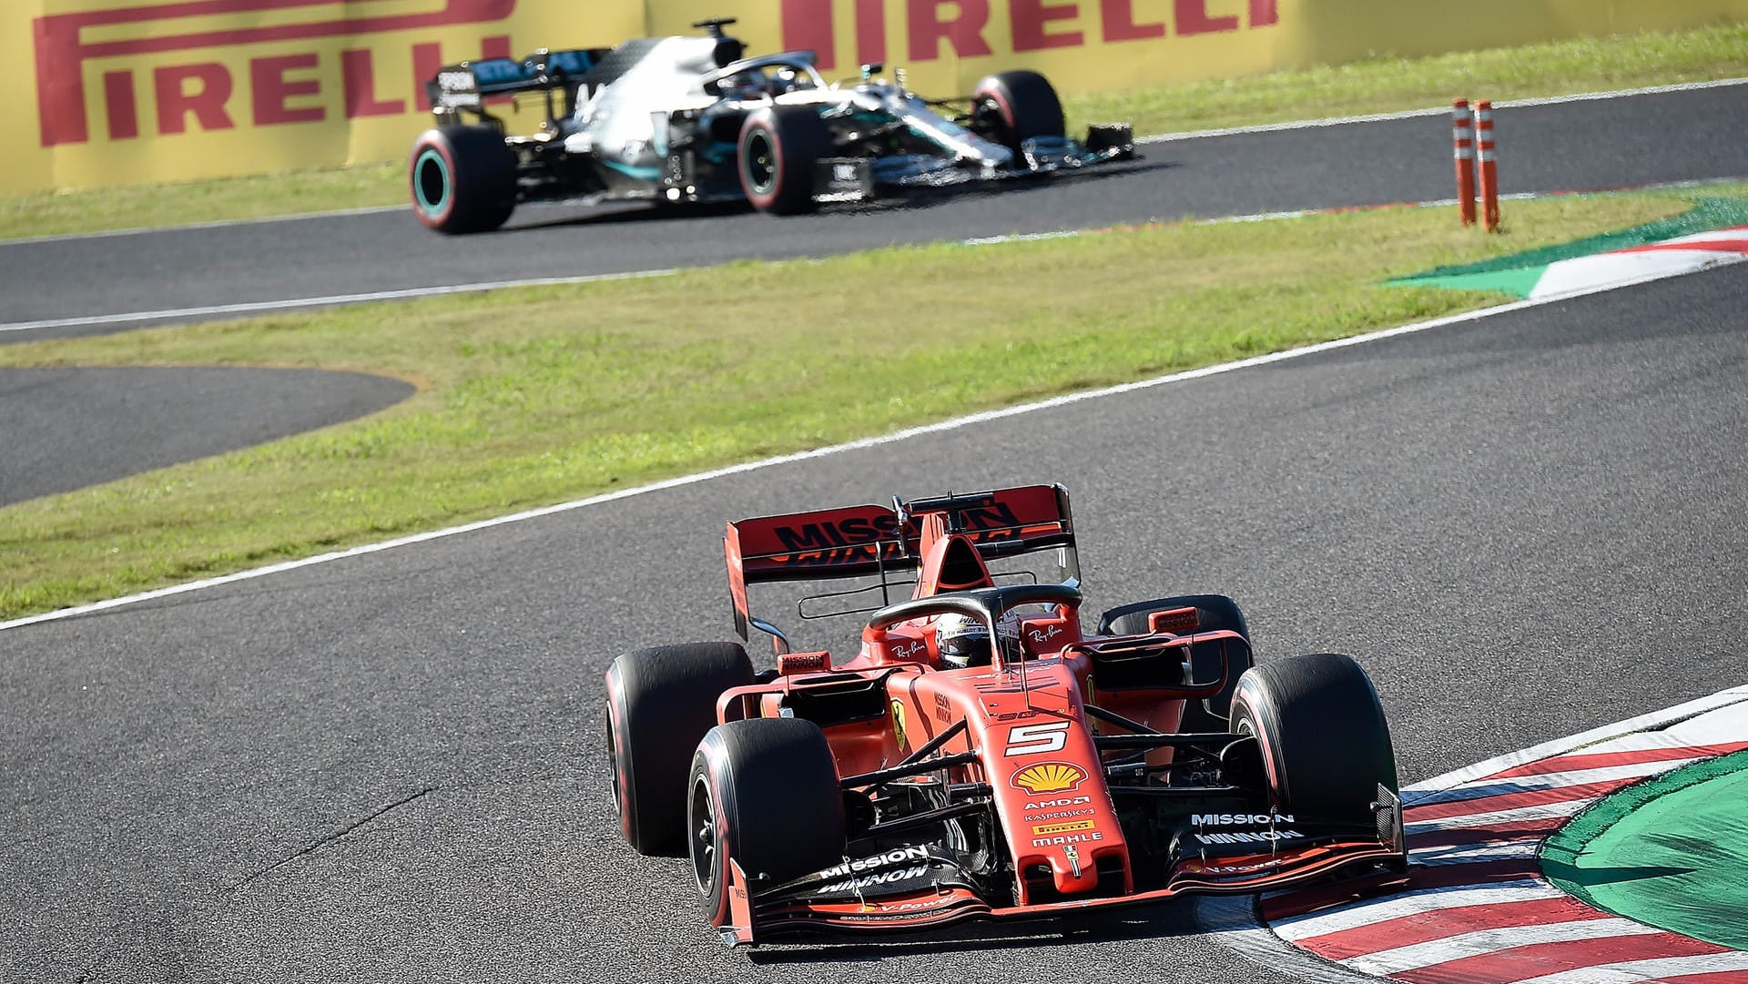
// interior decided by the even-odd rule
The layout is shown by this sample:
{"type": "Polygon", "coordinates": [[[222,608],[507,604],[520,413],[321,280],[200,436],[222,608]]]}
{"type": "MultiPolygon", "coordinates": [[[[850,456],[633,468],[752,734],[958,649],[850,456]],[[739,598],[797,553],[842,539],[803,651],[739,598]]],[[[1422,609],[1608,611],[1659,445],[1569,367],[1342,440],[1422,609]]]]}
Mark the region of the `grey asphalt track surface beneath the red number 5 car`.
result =
{"type": "Polygon", "coordinates": [[[727,633],[724,517],[1059,479],[1089,608],[1222,591],[1262,659],[1356,654],[1405,781],[1715,692],[1745,295],[1734,266],[7,629],[0,977],[1287,981],[1182,905],[731,953],[614,834],[601,671],[727,633]]]}

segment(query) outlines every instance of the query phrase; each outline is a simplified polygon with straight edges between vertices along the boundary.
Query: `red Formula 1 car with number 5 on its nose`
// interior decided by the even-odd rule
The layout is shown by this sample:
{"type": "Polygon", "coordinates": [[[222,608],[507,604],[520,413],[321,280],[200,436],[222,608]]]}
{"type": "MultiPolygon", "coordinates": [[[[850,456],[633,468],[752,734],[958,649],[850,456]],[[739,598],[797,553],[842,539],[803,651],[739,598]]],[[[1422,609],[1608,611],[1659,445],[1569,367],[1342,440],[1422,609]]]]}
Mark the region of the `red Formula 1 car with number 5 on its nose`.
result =
{"type": "Polygon", "coordinates": [[[1252,666],[1243,613],[1213,594],[1122,605],[1086,634],[1061,486],[745,519],[725,552],[736,629],[769,634],[776,669],[739,643],[628,652],[607,711],[626,841],[689,853],[729,944],[1407,867],[1360,666],[1252,666]],[[991,573],[1045,551],[1059,584],[991,573]],[[836,579],[871,584],[797,613],[867,615],[850,659],[790,652],[750,612],[752,584],[836,579]]]}

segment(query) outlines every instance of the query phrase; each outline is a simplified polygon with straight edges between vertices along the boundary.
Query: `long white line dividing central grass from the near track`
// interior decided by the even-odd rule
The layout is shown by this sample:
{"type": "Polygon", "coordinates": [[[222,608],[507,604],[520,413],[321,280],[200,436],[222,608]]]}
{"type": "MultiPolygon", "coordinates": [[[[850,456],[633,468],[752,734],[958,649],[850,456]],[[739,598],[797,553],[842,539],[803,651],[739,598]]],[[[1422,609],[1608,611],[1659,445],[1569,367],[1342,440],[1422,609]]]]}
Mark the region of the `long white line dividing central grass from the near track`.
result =
{"type": "MultiPolygon", "coordinates": [[[[1692,273],[1692,271],[1683,271],[1683,273],[1692,273]]],[[[1054,409],[1054,407],[1066,407],[1070,404],[1079,404],[1079,402],[1084,402],[1084,400],[1096,400],[1096,398],[1103,398],[1103,397],[1115,397],[1115,395],[1122,395],[1122,393],[1134,393],[1134,392],[1140,392],[1140,390],[1152,390],[1155,386],[1168,386],[1171,383],[1185,383],[1189,379],[1206,379],[1210,376],[1222,376],[1225,372],[1236,372],[1239,369],[1252,369],[1255,365],[1269,365],[1269,364],[1274,364],[1274,362],[1287,362],[1290,358],[1302,358],[1306,355],[1316,355],[1316,353],[1323,353],[1323,351],[1335,351],[1335,350],[1342,350],[1342,348],[1353,348],[1353,346],[1369,344],[1369,343],[1374,343],[1374,341],[1393,339],[1393,337],[1400,337],[1400,336],[1411,336],[1411,334],[1418,334],[1418,332],[1425,332],[1425,330],[1432,330],[1432,329],[1442,329],[1442,327],[1449,327],[1449,325],[1463,325],[1463,323],[1470,323],[1470,322],[1479,322],[1482,318],[1491,318],[1495,315],[1509,315],[1512,311],[1528,311],[1531,308],[1542,308],[1545,304],[1556,304],[1556,302],[1557,304],[1566,304],[1566,302],[1571,302],[1575,297],[1584,297],[1584,295],[1589,295],[1589,294],[1605,294],[1608,290],[1617,290],[1617,288],[1622,288],[1622,287],[1636,287],[1640,283],[1648,283],[1648,281],[1654,281],[1654,280],[1664,280],[1668,276],[1671,276],[1671,274],[1645,276],[1645,278],[1638,278],[1638,280],[1626,281],[1626,283],[1613,283],[1613,285],[1608,285],[1608,287],[1598,287],[1598,288],[1584,290],[1584,292],[1578,292],[1578,294],[1566,294],[1563,297],[1549,299],[1549,301],[1514,301],[1510,304],[1500,304],[1496,308],[1482,308],[1479,311],[1463,311],[1461,315],[1449,315],[1449,316],[1444,316],[1444,318],[1433,318],[1430,322],[1418,322],[1418,323],[1412,323],[1412,325],[1400,325],[1400,327],[1395,327],[1395,329],[1383,329],[1383,330],[1369,332],[1369,334],[1363,334],[1363,336],[1349,336],[1349,337],[1344,337],[1344,339],[1334,339],[1334,341],[1327,341],[1327,343],[1309,344],[1309,346],[1304,346],[1304,348],[1294,348],[1294,350],[1287,350],[1287,351],[1273,351],[1273,353],[1267,353],[1267,355],[1257,355],[1257,357],[1252,357],[1252,358],[1241,358],[1238,362],[1225,362],[1225,364],[1220,364],[1220,365],[1208,365],[1208,367],[1203,367],[1203,369],[1190,369],[1190,371],[1185,371],[1185,372],[1173,372],[1169,376],[1155,376],[1152,379],[1140,379],[1136,383],[1122,383],[1122,385],[1117,385],[1117,386],[1105,386],[1101,390],[1082,390],[1079,393],[1066,393],[1066,395],[1061,395],[1061,397],[1052,397],[1049,400],[1038,400],[1038,402],[1033,402],[1033,404],[1021,404],[1021,405],[1016,405],[1016,407],[1002,407],[1002,409],[984,411],[984,412],[968,414],[968,416],[961,416],[961,418],[944,419],[944,421],[939,421],[939,423],[928,423],[928,425],[911,426],[911,428],[905,428],[905,430],[893,432],[893,433],[883,433],[879,437],[864,437],[860,440],[848,440],[844,444],[832,444],[829,447],[815,447],[811,451],[795,451],[792,454],[778,454],[774,458],[762,458],[759,461],[745,461],[745,463],[739,463],[739,465],[727,465],[724,468],[711,468],[708,472],[696,472],[696,474],[690,474],[690,475],[680,475],[680,477],[675,477],[675,479],[664,479],[664,481],[659,481],[659,482],[650,482],[647,486],[638,486],[638,488],[631,488],[631,489],[619,489],[619,491],[603,493],[603,495],[596,495],[596,496],[589,496],[589,498],[579,498],[579,500],[572,500],[572,502],[561,502],[558,505],[547,505],[547,507],[542,507],[542,509],[530,509],[526,512],[514,512],[510,516],[498,516],[498,517],[493,517],[493,519],[481,519],[477,523],[467,523],[467,524],[461,524],[461,526],[449,526],[449,528],[444,528],[444,530],[432,530],[430,533],[416,533],[413,537],[400,537],[400,538],[395,538],[395,540],[383,540],[379,544],[365,544],[362,547],[351,547],[351,549],[346,549],[346,551],[334,551],[334,552],[320,554],[320,556],[315,556],[315,558],[302,558],[302,559],[295,559],[295,561],[285,561],[285,563],[278,563],[278,565],[267,565],[267,566],[262,566],[262,568],[245,570],[245,572],[238,572],[238,573],[227,573],[224,577],[210,577],[210,579],[205,579],[205,580],[191,580],[191,582],[185,582],[185,584],[175,584],[171,587],[161,587],[157,591],[143,591],[140,594],[128,594],[128,596],[122,596],[122,598],[108,598],[108,599],[103,599],[103,601],[93,601],[89,605],[77,605],[77,606],[72,606],[72,608],[59,608],[56,612],[44,612],[40,615],[26,615],[23,619],[12,619],[10,622],[0,622],[0,631],[3,631],[3,629],[16,629],[16,627],[21,627],[21,626],[33,626],[33,624],[38,624],[38,622],[51,622],[51,620],[58,620],[58,619],[68,619],[68,617],[73,617],[73,615],[86,615],[86,613],[101,612],[101,610],[107,610],[107,608],[119,608],[122,605],[133,605],[136,601],[149,601],[149,599],[154,599],[154,598],[168,598],[171,594],[184,594],[184,592],[189,592],[189,591],[201,591],[201,589],[217,587],[217,586],[222,586],[222,584],[234,584],[234,582],[239,582],[239,580],[253,580],[257,577],[267,577],[271,573],[280,573],[280,572],[287,572],[287,570],[297,570],[297,568],[304,568],[304,566],[322,565],[322,563],[337,561],[337,559],[344,559],[344,558],[355,558],[355,556],[362,556],[362,554],[374,554],[378,551],[388,551],[388,549],[404,547],[404,545],[409,545],[409,544],[423,544],[425,540],[437,540],[440,537],[454,537],[458,533],[472,533],[475,530],[488,530],[491,526],[503,526],[507,523],[521,523],[524,519],[537,519],[537,517],[542,517],[542,516],[552,516],[556,512],[568,512],[572,509],[582,509],[582,507],[589,507],[589,505],[600,505],[600,503],[607,503],[607,502],[617,502],[621,498],[631,498],[631,496],[647,495],[647,493],[654,493],[654,491],[662,491],[662,489],[671,489],[671,488],[680,488],[680,486],[690,486],[690,484],[697,484],[697,482],[708,482],[711,479],[720,479],[720,477],[727,477],[727,475],[741,475],[741,474],[746,474],[746,472],[759,472],[759,470],[764,470],[764,468],[773,468],[776,465],[788,465],[792,461],[808,461],[808,460],[813,460],[813,458],[827,458],[827,456],[832,456],[832,454],[843,454],[846,451],[860,451],[860,449],[865,449],[865,447],[879,447],[879,446],[884,446],[884,444],[895,444],[895,442],[900,442],[900,440],[909,440],[912,437],[921,437],[921,435],[926,435],[926,433],[944,433],[944,432],[949,432],[949,430],[960,430],[960,428],[965,428],[965,426],[974,426],[974,425],[988,423],[988,421],[993,421],[993,419],[1005,419],[1005,418],[1010,418],[1010,416],[1021,416],[1021,414],[1030,414],[1030,412],[1037,412],[1037,411],[1047,411],[1047,409],[1054,409]]],[[[1682,276],[1682,274],[1675,274],[1675,276],[1682,276]]],[[[1748,699],[1748,687],[1743,687],[1741,690],[1743,690],[1743,697],[1741,699],[1748,699]]],[[[1699,711],[1694,711],[1694,713],[1697,715],[1699,711]]],[[[1619,732],[1615,732],[1615,734],[1619,734],[1619,732]]],[[[1612,734],[1610,734],[1610,738],[1612,738],[1612,734]]],[[[1512,762],[1512,764],[1517,764],[1517,762],[1512,762]]],[[[1500,766],[1500,767],[1503,769],[1503,767],[1509,767],[1509,766],[1500,766]]],[[[1477,773],[1477,774],[1486,774],[1486,773],[1477,773]]],[[[1474,776],[1470,776],[1470,778],[1474,778],[1474,776]]],[[[1458,781],[1461,781],[1461,780],[1458,780],[1458,781]]],[[[1411,787],[1411,788],[1414,788],[1414,787],[1411,787]]]]}

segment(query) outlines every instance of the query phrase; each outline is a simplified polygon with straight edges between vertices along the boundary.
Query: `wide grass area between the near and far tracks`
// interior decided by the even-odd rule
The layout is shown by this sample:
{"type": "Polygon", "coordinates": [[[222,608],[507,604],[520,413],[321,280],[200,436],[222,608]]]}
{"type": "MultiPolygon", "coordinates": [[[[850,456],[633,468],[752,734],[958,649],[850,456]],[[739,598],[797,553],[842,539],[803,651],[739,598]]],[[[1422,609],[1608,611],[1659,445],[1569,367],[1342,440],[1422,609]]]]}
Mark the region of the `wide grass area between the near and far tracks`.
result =
{"type": "Polygon", "coordinates": [[[1472,309],[1496,295],[1376,285],[1718,194],[1748,189],[1512,203],[1500,236],[1449,210],[1175,224],[0,346],[420,383],[358,421],[0,509],[0,619],[1472,309]],[[954,302],[872,325],[860,299],[890,283],[954,302]]]}

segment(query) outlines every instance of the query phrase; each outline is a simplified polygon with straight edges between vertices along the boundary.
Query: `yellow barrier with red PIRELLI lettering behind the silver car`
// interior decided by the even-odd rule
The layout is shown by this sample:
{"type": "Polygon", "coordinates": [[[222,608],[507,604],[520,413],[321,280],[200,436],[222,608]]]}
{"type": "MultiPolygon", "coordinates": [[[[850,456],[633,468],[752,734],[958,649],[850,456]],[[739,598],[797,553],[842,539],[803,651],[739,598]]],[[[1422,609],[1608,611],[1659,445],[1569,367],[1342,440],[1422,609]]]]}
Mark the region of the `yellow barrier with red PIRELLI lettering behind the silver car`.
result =
{"type": "MultiPolygon", "coordinates": [[[[0,194],[383,161],[447,61],[605,47],[736,16],[748,51],[827,75],[904,66],[925,94],[1028,66],[1099,91],[1377,54],[1748,21],[1748,0],[12,0],[0,194]]],[[[521,117],[531,129],[538,107],[521,117]]]]}

